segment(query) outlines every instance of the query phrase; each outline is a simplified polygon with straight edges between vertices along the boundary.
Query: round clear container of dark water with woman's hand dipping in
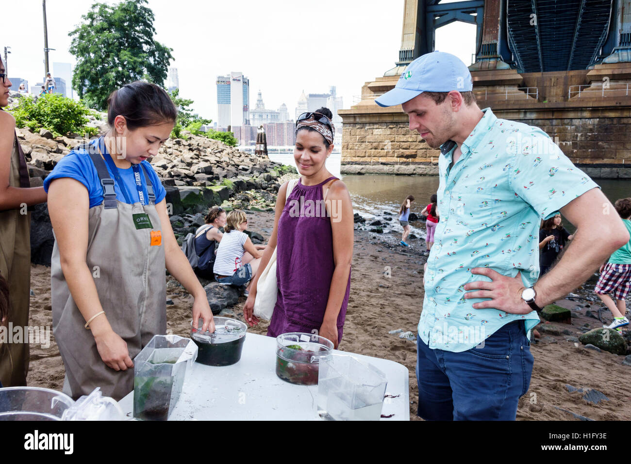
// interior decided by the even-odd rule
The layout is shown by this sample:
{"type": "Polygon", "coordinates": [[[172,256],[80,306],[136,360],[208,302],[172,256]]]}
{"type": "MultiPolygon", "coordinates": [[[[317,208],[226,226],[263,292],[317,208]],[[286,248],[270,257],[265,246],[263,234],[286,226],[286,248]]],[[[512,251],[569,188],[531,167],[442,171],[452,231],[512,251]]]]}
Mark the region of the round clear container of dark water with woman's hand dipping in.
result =
{"type": "Polygon", "coordinates": [[[215,331],[203,332],[204,321],[197,327],[191,321],[191,338],[198,345],[197,362],[206,366],[232,366],[241,359],[247,325],[237,319],[215,316],[215,331]]]}

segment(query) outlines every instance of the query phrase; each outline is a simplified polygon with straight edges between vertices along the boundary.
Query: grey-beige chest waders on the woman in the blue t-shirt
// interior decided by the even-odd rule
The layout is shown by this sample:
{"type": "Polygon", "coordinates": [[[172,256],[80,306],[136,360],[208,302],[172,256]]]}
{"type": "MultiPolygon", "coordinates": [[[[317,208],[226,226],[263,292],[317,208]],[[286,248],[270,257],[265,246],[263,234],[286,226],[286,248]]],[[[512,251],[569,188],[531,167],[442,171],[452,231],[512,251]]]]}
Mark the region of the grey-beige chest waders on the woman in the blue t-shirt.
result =
{"type": "MultiPolygon", "coordinates": [[[[160,238],[160,218],[153,186],[144,168],[148,205],[122,203],[116,199],[114,180],[103,158],[95,152],[97,150],[90,150],[90,158],[103,186],[103,203],[90,208],[88,213],[86,264],[107,320],[114,332],[125,340],[129,357],[134,359],[153,335],[167,331],[165,253],[160,238]]],[[[106,151],[104,156],[111,162],[106,151]]],[[[119,187],[126,193],[122,182],[119,187]]],[[[52,251],[50,275],[52,330],[66,368],[64,393],[76,400],[98,386],[103,395],[121,400],[134,388],[134,369],[114,371],[101,359],[92,332],[85,329],[85,319],[62,273],[57,241],[52,251]]]]}

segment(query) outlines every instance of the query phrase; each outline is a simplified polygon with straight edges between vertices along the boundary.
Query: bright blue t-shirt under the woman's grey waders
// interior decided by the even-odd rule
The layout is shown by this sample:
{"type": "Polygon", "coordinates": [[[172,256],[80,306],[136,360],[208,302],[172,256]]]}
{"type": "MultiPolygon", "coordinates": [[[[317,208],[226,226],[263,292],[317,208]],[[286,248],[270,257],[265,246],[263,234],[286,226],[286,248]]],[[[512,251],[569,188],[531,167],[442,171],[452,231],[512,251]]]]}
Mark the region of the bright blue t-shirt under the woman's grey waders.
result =
{"type": "MultiPolygon", "coordinates": [[[[162,186],[162,183],[160,182],[160,179],[158,179],[158,175],[153,170],[153,167],[151,167],[151,164],[148,161],[143,161],[140,164],[142,165],[140,169],[144,170],[151,180],[153,193],[155,193],[156,196],[155,203],[157,205],[165,198],[165,196],[167,196],[167,191],[162,186]]],[[[107,172],[109,172],[110,177],[114,179],[114,173],[110,169],[109,165],[105,163],[105,166],[107,167],[107,172]]],[[[125,183],[127,192],[131,195],[132,203],[138,203],[140,198],[138,196],[138,189],[136,189],[134,170],[131,167],[127,169],[119,169],[119,175],[125,183]]],[[[82,151],[75,152],[73,150],[68,153],[68,155],[61,158],[61,161],[57,163],[52,172],[50,172],[48,177],[46,177],[44,181],[44,190],[48,193],[50,182],[61,177],[70,177],[71,179],[75,179],[81,182],[81,184],[88,189],[88,195],[90,196],[90,208],[103,203],[103,187],[101,186],[101,182],[98,180],[97,168],[88,153],[82,151]]],[[[147,186],[142,172],[140,177],[143,182],[144,198],[148,201],[149,196],[147,193],[147,186]]],[[[116,192],[116,199],[121,201],[121,203],[128,203],[125,199],[125,195],[122,193],[121,187],[119,187],[119,184],[115,179],[114,189],[116,192]]]]}

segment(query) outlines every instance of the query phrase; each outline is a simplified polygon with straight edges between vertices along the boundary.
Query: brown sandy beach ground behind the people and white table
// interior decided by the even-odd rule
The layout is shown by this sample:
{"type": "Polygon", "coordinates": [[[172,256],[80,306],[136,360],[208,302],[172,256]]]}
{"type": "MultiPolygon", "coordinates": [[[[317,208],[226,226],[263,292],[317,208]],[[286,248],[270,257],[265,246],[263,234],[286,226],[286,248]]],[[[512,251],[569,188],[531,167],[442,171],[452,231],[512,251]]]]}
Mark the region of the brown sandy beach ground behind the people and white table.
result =
{"type": "MultiPolygon", "coordinates": [[[[273,227],[272,213],[252,213],[249,227],[261,232],[266,239],[273,227]]],[[[416,333],[416,324],[423,301],[423,263],[425,242],[411,239],[411,249],[390,245],[384,235],[355,231],[351,295],[348,303],[344,336],[339,349],[346,352],[382,357],[406,366],[410,371],[410,419],[416,417],[418,390],[416,389],[416,345],[388,331],[403,329],[416,333]],[[387,266],[389,266],[389,277],[387,266]]],[[[52,326],[50,311],[50,268],[33,266],[31,276],[30,324],[52,326]]],[[[192,297],[172,278],[167,278],[167,324],[176,335],[189,336],[192,297]]],[[[243,319],[245,298],[221,314],[243,319]]],[[[572,324],[541,324],[541,338],[533,344],[534,369],[530,388],[519,401],[518,420],[581,420],[579,416],[594,420],[630,420],[631,386],[628,376],[631,367],[622,364],[624,356],[596,352],[584,348],[570,337],[579,336],[579,327],[602,325],[585,316],[588,307],[581,303],[561,300],[569,305],[572,324]],[[567,340],[570,338],[570,340],[567,340]],[[567,385],[582,388],[583,393],[570,393],[567,385]],[[597,404],[583,399],[589,389],[598,390],[608,400],[597,404]],[[573,414],[574,413],[574,414],[573,414]]],[[[591,304],[594,310],[594,304],[591,304]]],[[[603,312],[608,317],[607,312],[603,312]]],[[[265,334],[267,323],[250,329],[265,334]]],[[[51,333],[52,336],[52,333],[51,333]]],[[[31,347],[28,384],[61,390],[64,367],[54,343],[49,348],[31,347]]]]}

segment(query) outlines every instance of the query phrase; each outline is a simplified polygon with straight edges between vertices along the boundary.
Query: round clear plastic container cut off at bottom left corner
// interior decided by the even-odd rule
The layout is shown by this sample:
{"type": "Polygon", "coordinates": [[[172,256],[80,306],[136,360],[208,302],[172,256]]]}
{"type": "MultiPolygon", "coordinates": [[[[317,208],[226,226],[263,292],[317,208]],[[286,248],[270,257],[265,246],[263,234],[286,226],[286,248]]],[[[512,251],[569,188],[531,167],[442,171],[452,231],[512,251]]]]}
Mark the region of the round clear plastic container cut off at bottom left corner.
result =
{"type": "Polygon", "coordinates": [[[0,388],[0,420],[61,420],[74,401],[49,388],[0,388]]]}

